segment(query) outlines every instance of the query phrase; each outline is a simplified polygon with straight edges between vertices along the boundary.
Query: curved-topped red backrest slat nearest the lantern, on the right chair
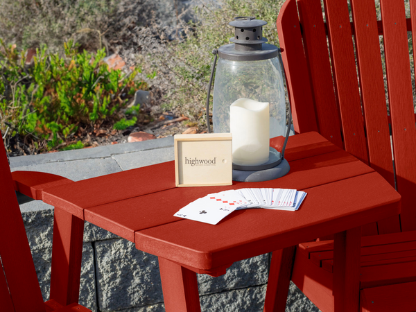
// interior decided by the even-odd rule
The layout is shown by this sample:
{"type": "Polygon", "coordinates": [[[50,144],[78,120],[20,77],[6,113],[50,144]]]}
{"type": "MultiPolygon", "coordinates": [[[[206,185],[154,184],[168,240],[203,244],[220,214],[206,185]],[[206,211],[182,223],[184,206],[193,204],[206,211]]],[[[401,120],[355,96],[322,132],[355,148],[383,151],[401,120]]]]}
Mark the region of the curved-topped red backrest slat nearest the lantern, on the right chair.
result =
{"type": "Polygon", "coordinates": [[[284,59],[286,79],[294,83],[288,84],[288,94],[291,101],[292,116],[295,132],[318,131],[316,124],[313,96],[309,76],[304,75],[307,70],[306,58],[303,53],[302,34],[300,32],[299,19],[297,18],[297,7],[295,1],[288,3],[289,14],[283,20],[277,20],[277,27],[284,28],[285,36],[291,40],[282,40],[287,44],[280,44],[280,48],[286,51],[287,58],[284,59]]]}

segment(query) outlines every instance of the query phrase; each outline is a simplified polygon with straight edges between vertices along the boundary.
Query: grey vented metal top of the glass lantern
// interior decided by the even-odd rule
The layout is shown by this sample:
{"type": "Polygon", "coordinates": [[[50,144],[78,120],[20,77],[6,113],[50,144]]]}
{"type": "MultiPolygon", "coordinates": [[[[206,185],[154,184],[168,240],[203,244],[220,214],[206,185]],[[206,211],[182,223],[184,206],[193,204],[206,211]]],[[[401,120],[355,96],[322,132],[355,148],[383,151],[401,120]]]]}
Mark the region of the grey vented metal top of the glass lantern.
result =
{"type": "Polygon", "coordinates": [[[225,60],[250,61],[268,60],[279,55],[279,48],[272,44],[266,44],[267,39],[263,37],[263,26],[266,21],[255,19],[255,17],[236,17],[229,22],[235,27],[234,37],[229,41],[233,44],[220,46],[218,56],[225,60]]]}

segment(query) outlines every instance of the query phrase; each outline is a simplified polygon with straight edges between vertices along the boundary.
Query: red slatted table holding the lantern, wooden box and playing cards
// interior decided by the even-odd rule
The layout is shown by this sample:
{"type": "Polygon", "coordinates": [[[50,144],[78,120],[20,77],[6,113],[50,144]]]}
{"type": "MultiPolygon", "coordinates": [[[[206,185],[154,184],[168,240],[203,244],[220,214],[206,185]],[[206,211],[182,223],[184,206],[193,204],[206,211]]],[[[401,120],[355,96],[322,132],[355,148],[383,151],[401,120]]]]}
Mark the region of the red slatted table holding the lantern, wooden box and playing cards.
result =
{"type": "MultiPolygon", "coordinates": [[[[155,254],[166,311],[200,311],[196,273],[223,275],[235,261],[335,233],[340,233],[335,241],[344,250],[340,254],[355,252],[359,259],[359,236],[351,231],[400,212],[399,193],[379,173],[317,132],[291,137],[285,157],[291,171],[272,181],[176,188],[174,162],[166,162],[48,189],[43,200],[155,254]],[[234,211],[218,225],[173,216],[208,193],[245,187],[308,195],[298,211],[234,211]]],[[[359,266],[359,261],[342,260],[334,261],[333,275],[333,283],[341,286],[349,285],[359,266]]],[[[343,292],[342,300],[348,295],[343,292]]]]}

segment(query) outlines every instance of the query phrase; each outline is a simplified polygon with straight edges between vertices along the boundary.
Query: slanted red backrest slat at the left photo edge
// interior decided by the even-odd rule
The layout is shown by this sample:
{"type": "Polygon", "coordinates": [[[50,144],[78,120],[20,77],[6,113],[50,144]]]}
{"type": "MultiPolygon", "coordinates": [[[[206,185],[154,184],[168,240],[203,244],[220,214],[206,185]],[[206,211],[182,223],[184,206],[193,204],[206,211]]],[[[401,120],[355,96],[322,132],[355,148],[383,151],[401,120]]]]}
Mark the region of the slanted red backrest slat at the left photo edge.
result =
{"type": "Polygon", "coordinates": [[[44,312],[42,293],[0,139],[0,257],[16,312],[44,312]]]}

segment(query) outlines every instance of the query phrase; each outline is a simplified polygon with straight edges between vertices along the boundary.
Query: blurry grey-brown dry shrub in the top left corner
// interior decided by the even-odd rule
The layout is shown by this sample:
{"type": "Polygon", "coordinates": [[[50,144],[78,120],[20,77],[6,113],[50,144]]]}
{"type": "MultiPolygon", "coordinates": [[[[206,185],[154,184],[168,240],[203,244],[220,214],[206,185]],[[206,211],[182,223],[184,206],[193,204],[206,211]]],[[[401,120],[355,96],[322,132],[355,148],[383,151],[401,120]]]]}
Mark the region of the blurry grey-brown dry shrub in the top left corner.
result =
{"type": "Polygon", "coordinates": [[[24,49],[47,44],[62,51],[71,38],[87,49],[101,49],[118,9],[115,0],[1,0],[0,37],[24,49]]]}

